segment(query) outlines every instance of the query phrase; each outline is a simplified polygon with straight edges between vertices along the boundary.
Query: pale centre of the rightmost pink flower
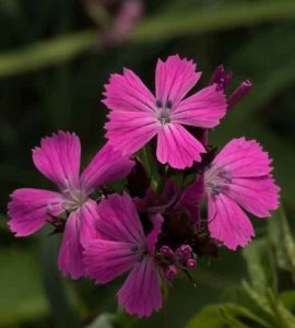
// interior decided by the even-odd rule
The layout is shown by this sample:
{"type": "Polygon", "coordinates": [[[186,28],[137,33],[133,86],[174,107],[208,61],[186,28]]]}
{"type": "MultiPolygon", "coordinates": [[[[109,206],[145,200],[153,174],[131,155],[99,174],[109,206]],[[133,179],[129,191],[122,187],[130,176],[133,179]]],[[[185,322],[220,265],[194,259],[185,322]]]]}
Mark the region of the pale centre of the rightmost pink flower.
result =
{"type": "Polygon", "coordinates": [[[204,184],[206,190],[211,195],[216,196],[228,189],[232,184],[232,177],[226,169],[217,165],[211,165],[205,171],[204,184]]]}

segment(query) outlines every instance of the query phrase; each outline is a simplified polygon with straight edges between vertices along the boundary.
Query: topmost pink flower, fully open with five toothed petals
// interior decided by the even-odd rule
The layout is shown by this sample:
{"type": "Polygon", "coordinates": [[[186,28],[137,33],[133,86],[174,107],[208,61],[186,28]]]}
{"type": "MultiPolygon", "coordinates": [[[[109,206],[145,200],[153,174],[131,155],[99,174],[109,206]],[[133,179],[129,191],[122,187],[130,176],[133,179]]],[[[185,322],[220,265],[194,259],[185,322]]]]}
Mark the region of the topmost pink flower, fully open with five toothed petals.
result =
{"type": "Polygon", "coordinates": [[[105,128],[111,145],[134,153],[157,136],[161,163],[185,168],[200,162],[205,149],[182,125],[213,128],[226,112],[223,90],[216,84],[185,98],[200,77],[191,60],[179,56],[158,60],[154,96],[131,70],[113,74],[103,101],[110,109],[105,128]]]}

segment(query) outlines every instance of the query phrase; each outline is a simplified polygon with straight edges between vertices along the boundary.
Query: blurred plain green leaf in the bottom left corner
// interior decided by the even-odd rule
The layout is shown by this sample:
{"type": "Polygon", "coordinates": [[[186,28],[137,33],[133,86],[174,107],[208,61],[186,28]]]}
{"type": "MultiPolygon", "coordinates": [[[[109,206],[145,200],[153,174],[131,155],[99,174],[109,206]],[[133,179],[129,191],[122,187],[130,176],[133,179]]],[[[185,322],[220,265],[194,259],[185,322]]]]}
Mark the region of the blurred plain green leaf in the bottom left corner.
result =
{"type": "Polygon", "coordinates": [[[13,326],[49,314],[36,258],[27,250],[0,253],[0,326],[13,326]]]}

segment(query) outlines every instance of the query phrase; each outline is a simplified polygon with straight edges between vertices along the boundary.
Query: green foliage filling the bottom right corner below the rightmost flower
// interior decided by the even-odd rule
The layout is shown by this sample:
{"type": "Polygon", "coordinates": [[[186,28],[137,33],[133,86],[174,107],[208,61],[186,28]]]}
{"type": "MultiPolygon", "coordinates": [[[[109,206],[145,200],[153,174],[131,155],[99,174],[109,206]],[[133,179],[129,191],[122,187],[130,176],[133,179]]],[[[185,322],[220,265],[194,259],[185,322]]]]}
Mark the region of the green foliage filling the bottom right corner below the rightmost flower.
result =
{"type": "Polygon", "coordinates": [[[249,282],[243,281],[235,288],[235,293],[227,295],[226,302],[231,303],[205,306],[187,328],[222,328],[226,324],[235,328],[294,327],[294,291],[282,291],[278,283],[280,269],[287,270],[293,276],[294,237],[282,209],[274,213],[273,219],[269,223],[269,234],[244,250],[249,282]],[[279,239],[278,236],[282,238],[279,239]],[[278,249],[281,249],[280,256],[278,249]],[[205,326],[208,317],[212,318],[212,323],[209,321],[209,326],[205,326]]]}

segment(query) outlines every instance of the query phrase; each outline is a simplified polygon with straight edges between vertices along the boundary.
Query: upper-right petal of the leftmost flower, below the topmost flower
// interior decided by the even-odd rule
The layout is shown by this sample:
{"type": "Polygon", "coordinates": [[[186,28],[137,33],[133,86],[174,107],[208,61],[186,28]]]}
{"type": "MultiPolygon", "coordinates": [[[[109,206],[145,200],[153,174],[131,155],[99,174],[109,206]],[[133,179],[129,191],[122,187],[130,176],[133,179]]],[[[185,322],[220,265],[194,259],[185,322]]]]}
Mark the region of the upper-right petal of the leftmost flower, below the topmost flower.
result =
{"type": "Polygon", "coordinates": [[[104,145],[87,165],[81,176],[82,189],[86,194],[97,187],[128,175],[134,162],[115,151],[109,144],[104,145]]]}

